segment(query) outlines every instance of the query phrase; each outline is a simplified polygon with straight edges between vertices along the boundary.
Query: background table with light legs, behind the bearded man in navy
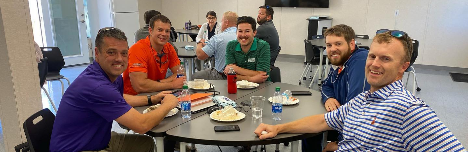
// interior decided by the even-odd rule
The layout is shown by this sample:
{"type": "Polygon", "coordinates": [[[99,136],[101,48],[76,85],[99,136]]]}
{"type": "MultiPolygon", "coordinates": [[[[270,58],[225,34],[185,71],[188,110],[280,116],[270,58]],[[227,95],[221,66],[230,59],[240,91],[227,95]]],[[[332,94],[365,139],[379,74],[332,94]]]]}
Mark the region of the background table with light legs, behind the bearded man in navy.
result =
{"type": "MultiPolygon", "coordinates": [[[[354,40],[361,43],[361,44],[358,44],[358,46],[360,46],[360,47],[371,47],[371,44],[372,44],[372,39],[359,39],[359,38],[356,38],[354,40]]],[[[325,39],[315,39],[315,40],[309,40],[309,41],[312,44],[312,46],[314,46],[315,48],[320,49],[320,56],[322,56],[323,55],[323,50],[325,50],[327,48],[327,46],[325,45],[325,43],[326,43],[325,39]]],[[[319,61],[319,69],[318,69],[319,70],[319,73],[318,73],[318,80],[319,80],[318,85],[319,85],[319,87],[320,87],[320,85],[322,83],[321,82],[322,81],[322,69],[323,69],[322,68],[322,66],[323,66],[322,65],[322,60],[323,60],[323,58],[321,57],[320,61],[319,61]]],[[[326,63],[328,63],[328,57],[326,59],[326,63]]],[[[327,70],[325,72],[328,74],[328,70],[329,70],[328,64],[325,65],[325,70],[327,70]]],[[[327,77],[327,75],[325,75],[323,79],[325,79],[326,77],[327,77]]],[[[314,80],[315,80],[315,77],[312,78],[312,82],[314,82],[314,80]]],[[[312,83],[310,83],[310,85],[309,85],[309,88],[311,88],[311,87],[312,87],[312,83]]]]}

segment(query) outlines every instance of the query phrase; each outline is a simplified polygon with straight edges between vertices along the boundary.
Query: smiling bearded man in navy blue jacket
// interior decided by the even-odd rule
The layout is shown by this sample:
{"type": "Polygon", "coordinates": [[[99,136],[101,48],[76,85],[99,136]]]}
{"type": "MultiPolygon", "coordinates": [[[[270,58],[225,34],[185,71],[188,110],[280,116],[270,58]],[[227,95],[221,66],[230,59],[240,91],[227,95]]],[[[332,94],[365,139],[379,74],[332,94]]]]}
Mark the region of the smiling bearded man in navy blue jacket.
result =
{"type": "MultiPolygon", "coordinates": [[[[344,24],[327,29],[323,36],[327,46],[327,57],[333,65],[322,85],[322,102],[327,111],[334,111],[359,93],[370,89],[365,75],[369,51],[355,44],[354,30],[344,24]]],[[[303,152],[322,152],[320,137],[303,140],[303,152]]],[[[328,140],[332,142],[327,144],[325,151],[336,151],[336,141],[342,139],[338,131],[329,131],[328,140]]]]}

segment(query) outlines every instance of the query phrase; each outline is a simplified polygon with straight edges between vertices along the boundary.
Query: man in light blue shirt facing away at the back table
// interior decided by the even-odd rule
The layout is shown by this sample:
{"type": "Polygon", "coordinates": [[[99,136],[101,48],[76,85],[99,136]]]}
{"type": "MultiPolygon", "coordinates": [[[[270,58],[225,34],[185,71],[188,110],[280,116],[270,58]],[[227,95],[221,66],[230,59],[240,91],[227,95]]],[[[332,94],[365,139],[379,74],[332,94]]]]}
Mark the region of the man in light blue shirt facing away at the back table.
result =
{"type": "Polygon", "coordinates": [[[214,55],[215,67],[195,72],[192,76],[193,79],[227,79],[227,76],[223,74],[224,67],[226,66],[226,45],[227,42],[237,39],[237,17],[237,13],[235,12],[225,12],[221,19],[221,31],[223,32],[214,35],[207,43],[204,40],[200,40],[200,43],[197,44],[197,50],[195,51],[197,58],[199,60],[206,60],[214,55]]]}

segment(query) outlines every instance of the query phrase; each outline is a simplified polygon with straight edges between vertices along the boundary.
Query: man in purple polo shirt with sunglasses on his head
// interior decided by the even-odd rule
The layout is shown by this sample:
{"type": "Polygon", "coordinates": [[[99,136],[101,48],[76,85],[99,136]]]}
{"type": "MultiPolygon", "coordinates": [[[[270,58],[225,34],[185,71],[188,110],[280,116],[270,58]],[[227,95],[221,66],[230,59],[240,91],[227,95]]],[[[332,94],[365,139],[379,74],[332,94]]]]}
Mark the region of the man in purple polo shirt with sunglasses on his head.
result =
{"type": "Polygon", "coordinates": [[[51,152],[153,152],[153,138],[111,132],[112,121],[144,134],[176,107],[176,97],[169,91],[152,97],[124,95],[121,75],[128,63],[127,37],[117,28],[102,28],[95,43],[95,61],[81,72],[60,101],[51,152]],[[132,108],[157,103],[161,106],[146,114],[132,108]]]}

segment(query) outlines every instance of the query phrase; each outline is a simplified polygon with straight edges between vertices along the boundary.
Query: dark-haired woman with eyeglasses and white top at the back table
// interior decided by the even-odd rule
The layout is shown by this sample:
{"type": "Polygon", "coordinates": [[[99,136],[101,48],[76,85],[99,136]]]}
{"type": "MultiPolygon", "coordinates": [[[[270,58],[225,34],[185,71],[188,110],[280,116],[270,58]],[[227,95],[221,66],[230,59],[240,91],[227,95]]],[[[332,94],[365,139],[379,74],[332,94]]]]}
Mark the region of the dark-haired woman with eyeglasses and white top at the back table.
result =
{"type": "MultiPolygon", "coordinates": [[[[216,21],[216,13],[213,11],[208,11],[206,13],[206,23],[203,23],[202,27],[200,28],[200,31],[198,32],[197,38],[195,39],[198,42],[200,40],[204,39],[203,35],[206,32],[206,35],[208,37],[208,40],[213,36],[221,33],[221,23],[216,21]]],[[[205,40],[205,41],[208,41],[205,40]]]]}

